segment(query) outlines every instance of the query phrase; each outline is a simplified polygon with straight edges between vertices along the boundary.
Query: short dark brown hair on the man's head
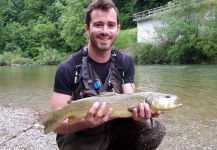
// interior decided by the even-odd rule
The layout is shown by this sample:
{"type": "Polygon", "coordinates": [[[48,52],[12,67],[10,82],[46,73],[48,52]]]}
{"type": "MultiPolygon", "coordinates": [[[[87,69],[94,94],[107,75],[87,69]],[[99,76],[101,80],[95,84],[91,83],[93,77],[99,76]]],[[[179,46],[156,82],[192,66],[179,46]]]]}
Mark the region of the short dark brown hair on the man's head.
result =
{"type": "Polygon", "coordinates": [[[91,13],[95,9],[109,10],[113,8],[117,13],[117,23],[119,24],[119,12],[112,0],[93,0],[86,10],[85,23],[89,26],[91,21],[91,13]]]}

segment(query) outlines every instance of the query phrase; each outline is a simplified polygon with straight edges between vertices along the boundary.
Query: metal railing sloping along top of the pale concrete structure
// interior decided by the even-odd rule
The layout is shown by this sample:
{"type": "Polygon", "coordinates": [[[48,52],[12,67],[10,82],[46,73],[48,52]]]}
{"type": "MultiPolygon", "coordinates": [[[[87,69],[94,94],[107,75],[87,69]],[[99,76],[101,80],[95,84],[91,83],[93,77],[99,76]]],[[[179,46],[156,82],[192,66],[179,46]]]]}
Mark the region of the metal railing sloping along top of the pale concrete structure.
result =
{"type": "MultiPolygon", "coordinates": [[[[192,3],[197,3],[197,2],[201,2],[203,0],[193,0],[192,3]]],[[[145,11],[141,11],[138,13],[133,14],[133,21],[139,21],[139,20],[143,20],[143,19],[148,19],[153,17],[155,14],[159,13],[159,12],[163,12],[172,8],[177,8],[181,5],[181,2],[172,2],[172,3],[168,3],[166,5],[160,6],[160,7],[156,7],[153,9],[149,9],[149,10],[145,10],[145,11]]]]}

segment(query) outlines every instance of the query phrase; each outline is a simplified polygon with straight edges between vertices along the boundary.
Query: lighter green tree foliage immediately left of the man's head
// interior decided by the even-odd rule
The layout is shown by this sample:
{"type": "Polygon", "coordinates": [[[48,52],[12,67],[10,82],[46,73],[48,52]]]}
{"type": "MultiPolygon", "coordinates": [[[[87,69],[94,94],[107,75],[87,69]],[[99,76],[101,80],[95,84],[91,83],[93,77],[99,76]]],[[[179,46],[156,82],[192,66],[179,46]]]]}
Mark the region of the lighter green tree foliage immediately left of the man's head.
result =
{"type": "Polygon", "coordinates": [[[86,41],[84,32],[84,14],[88,0],[67,1],[65,11],[60,17],[60,34],[72,51],[77,51],[86,41]],[[72,15],[73,14],[73,15],[72,15]]]}

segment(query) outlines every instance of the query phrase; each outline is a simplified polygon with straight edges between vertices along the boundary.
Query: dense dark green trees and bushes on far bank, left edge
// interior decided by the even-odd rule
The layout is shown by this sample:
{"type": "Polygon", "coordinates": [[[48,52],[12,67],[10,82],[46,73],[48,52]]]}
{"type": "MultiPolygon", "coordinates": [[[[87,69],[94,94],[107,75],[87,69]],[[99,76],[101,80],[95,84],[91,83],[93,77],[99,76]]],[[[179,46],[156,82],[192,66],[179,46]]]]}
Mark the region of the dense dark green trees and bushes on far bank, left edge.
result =
{"type": "Polygon", "coordinates": [[[59,0],[56,2],[54,0],[0,0],[0,2],[0,56],[2,61],[6,60],[3,61],[4,64],[26,62],[11,61],[12,57],[17,58],[16,60],[31,58],[37,63],[39,61],[36,60],[43,60],[39,64],[46,64],[44,59],[41,59],[43,53],[41,49],[45,48],[41,47],[46,47],[45,52],[50,57],[55,57],[45,57],[48,58],[49,63],[59,63],[60,59],[63,59],[61,51],[66,51],[67,45],[60,37],[57,23],[63,9],[59,0]],[[46,16],[52,12],[55,12],[57,18],[51,14],[46,16]]]}

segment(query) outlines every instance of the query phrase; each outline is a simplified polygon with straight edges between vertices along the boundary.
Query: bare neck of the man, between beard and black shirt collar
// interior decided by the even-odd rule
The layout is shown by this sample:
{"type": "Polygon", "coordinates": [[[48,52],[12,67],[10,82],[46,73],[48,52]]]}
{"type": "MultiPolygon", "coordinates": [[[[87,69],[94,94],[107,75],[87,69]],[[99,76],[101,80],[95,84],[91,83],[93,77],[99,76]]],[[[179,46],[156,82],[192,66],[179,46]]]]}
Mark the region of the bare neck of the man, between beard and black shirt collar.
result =
{"type": "Polygon", "coordinates": [[[111,57],[111,49],[110,50],[97,50],[94,47],[88,45],[88,55],[91,59],[98,63],[105,63],[111,57]]]}

